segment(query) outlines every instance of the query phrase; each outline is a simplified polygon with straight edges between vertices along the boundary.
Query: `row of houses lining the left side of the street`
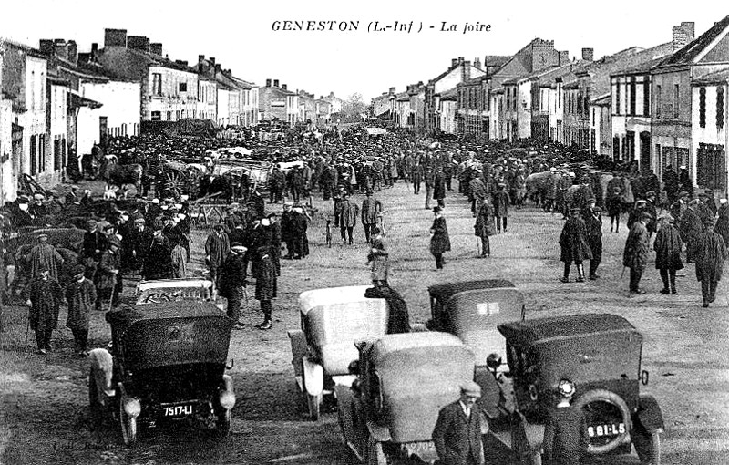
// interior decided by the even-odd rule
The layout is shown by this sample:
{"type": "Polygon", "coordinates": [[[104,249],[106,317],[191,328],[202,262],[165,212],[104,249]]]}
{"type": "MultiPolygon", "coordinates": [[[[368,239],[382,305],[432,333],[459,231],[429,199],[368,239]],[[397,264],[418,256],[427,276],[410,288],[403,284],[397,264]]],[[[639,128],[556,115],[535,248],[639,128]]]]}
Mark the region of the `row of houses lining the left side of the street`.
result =
{"type": "Polygon", "coordinates": [[[267,79],[238,78],[215,57],[172,60],[160,43],[105,29],[103,47],[79,53],[74,40],[37,48],[0,39],[0,204],[15,200],[20,176],[44,187],[62,181],[68,163],[109,137],[136,136],[180,119],[222,127],[263,119],[327,123],[344,101],[315,98],[267,79]]]}

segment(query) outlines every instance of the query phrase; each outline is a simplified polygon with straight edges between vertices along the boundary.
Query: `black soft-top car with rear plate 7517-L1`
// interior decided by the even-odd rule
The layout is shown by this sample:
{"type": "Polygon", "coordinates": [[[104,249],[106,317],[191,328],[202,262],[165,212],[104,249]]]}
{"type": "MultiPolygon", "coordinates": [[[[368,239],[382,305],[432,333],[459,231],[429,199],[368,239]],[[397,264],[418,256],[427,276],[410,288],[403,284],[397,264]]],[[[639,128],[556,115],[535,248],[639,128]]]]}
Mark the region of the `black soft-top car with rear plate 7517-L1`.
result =
{"type": "Polygon", "coordinates": [[[111,346],[89,354],[94,418],[112,414],[125,444],[140,427],[196,420],[221,436],[235,406],[225,374],[235,324],[210,302],[127,305],[108,312],[111,346]]]}

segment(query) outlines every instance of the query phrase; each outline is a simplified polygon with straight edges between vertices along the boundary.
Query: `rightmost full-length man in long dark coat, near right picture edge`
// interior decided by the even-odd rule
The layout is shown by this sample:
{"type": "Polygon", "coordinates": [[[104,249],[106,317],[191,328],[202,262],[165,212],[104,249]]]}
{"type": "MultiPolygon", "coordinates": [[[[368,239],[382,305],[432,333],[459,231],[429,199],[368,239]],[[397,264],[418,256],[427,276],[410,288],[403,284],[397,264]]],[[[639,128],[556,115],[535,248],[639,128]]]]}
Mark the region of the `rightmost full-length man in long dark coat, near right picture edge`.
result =
{"type": "Polygon", "coordinates": [[[696,279],[701,282],[703,307],[716,299],[716,286],[722,280],[724,261],[727,258],[724,239],[714,232],[714,219],[704,222],[705,230],[696,245],[696,279]]]}

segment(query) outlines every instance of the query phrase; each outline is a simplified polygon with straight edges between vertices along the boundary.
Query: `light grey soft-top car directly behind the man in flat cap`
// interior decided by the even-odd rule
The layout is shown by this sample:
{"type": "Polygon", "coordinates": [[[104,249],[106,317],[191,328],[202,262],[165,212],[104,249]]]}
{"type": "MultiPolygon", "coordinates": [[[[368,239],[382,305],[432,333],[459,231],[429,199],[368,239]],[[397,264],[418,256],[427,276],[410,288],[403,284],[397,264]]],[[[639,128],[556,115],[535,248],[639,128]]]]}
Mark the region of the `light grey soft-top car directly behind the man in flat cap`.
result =
{"type": "Polygon", "coordinates": [[[433,463],[438,412],[473,378],[473,353],[439,332],[380,336],[356,346],[351,370],[357,378],[351,387],[335,387],[344,443],[368,465],[433,463]]]}

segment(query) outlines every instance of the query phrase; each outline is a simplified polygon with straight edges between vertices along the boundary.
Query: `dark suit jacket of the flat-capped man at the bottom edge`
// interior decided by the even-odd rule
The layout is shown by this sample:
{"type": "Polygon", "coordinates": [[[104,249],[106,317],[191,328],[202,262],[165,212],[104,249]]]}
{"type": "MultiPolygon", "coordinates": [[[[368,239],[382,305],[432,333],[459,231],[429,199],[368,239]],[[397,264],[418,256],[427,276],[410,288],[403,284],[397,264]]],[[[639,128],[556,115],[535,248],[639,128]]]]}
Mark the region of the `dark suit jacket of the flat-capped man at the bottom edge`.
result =
{"type": "Polygon", "coordinates": [[[444,465],[482,464],[484,456],[477,405],[471,408],[470,418],[466,418],[459,401],[441,408],[433,429],[433,442],[444,465]],[[472,456],[473,462],[468,461],[469,456],[472,456]]]}

